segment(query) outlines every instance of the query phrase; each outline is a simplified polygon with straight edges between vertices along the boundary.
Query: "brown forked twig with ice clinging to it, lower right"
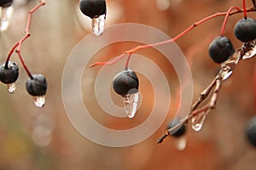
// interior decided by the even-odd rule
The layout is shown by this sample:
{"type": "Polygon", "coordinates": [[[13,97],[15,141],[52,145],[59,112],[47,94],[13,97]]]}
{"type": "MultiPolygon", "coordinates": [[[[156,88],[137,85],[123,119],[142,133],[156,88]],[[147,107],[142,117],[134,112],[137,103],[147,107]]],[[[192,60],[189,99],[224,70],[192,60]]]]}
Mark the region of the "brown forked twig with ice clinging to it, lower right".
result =
{"type": "Polygon", "coordinates": [[[197,116],[199,114],[207,115],[210,111],[215,109],[218,99],[218,92],[221,88],[222,83],[224,82],[224,80],[230,77],[230,75],[236,68],[236,65],[239,64],[239,61],[241,59],[253,58],[256,55],[255,46],[255,42],[243,43],[242,47],[236,50],[236,53],[233,54],[230,59],[228,59],[221,65],[221,69],[218,72],[218,75],[213,79],[209,86],[202,91],[199,98],[195,101],[194,105],[191,105],[188,115],[180,120],[180,122],[177,123],[176,126],[167,129],[166,133],[164,133],[159,139],[157,139],[157,144],[163,142],[163,140],[166,139],[168,135],[170,135],[172,132],[175,132],[184,123],[188,123],[189,120],[191,120],[194,116],[197,116]],[[212,89],[213,94],[212,97],[208,100],[207,104],[197,109],[199,105],[201,105],[201,102],[207,99],[212,89]]]}

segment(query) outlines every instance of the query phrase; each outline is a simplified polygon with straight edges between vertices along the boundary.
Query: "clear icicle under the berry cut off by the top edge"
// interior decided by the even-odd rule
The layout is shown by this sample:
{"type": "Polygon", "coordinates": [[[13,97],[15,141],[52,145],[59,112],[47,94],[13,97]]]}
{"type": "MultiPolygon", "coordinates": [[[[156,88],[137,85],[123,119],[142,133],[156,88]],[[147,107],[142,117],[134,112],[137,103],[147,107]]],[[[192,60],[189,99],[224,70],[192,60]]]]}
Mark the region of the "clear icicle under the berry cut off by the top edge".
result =
{"type": "Polygon", "coordinates": [[[91,20],[92,31],[96,36],[102,35],[106,22],[106,14],[102,14],[91,20]]]}

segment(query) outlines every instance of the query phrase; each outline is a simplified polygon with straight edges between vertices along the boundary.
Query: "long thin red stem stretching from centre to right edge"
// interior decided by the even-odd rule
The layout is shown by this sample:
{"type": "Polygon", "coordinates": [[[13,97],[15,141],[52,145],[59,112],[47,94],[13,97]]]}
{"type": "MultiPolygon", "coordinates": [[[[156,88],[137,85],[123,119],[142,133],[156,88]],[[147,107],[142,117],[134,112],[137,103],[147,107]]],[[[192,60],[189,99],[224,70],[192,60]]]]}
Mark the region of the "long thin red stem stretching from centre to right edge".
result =
{"type": "MultiPolygon", "coordinates": [[[[123,58],[125,56],[125,54],[133,54],[133,53],[137,52],[140,49],[152,48],[152,47],[156,47],[156,46],[163,45],[163,44],[166,44],[166,43],[175,42],[175,41],[177,41],[178,38],[183,37],[189,31],[193,30],[196,26],[201,25],[202,23],[206,22],[207,20],[211,20],[211,19],[213,19],[215,17],[223,16],[223,15],[227,15],[227,14],[229,14],[229,15],[239,14],[242,11],[244,11],[244,9],[241,9],[241,8],[238,8],[238,7],[234,7],[234,8],[236,8],[237,10],[233,11],[233,12],[230,11],[230,12],[222,12],[222,13],[216,13],[216,14],[209,15],[206,18],[195,22],[194,24],[189,26],[186,30],[182,31],[176,37],[173,37],[170,40],[166,40],[166,41],[163,41],[163,42],[155,42],[155,43],[151,43],[151,44],[147,44],[147,45],[141,45],[141,46],[137,46],[135,48],[131,48],[130,50],[125,51],[125,53],[119,55],[119,57],[117,59],[113,59],[113,60],[107,61],[107,62],[96,62],[96,63],[90,65],[90,67],[94,67],[96,65],[113,65],[119,59],[123,58]]],[[[253,11],[256,11],[256,9],[254,7],[251,7],[251,8],[246,8],[246,11],[247,12],[253,12],[253,11]]]]}

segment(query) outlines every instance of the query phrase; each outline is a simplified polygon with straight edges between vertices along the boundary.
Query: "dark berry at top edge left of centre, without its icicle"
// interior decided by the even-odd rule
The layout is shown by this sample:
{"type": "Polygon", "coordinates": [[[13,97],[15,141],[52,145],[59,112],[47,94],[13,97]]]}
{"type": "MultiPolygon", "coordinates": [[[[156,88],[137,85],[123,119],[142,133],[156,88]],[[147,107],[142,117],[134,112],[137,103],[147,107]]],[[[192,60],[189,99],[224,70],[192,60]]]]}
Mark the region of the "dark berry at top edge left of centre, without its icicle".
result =
{"type": "Polygon", "coordinates": [[[81,0],[79,3],[80,10],[91,19],[106,14],[105,0],[81,0]]]}

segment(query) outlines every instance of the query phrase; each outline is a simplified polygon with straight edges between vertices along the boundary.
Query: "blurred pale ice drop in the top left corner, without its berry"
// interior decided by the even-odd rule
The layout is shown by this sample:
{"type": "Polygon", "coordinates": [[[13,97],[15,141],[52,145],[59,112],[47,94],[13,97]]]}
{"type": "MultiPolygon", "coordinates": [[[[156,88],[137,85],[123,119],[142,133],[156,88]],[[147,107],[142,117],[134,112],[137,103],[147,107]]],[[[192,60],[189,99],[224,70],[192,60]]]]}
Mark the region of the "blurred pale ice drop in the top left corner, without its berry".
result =
{"type": "Polygon", "coordinates": [[[9,27],[9,20],[13,14],[14,8],[13,7],[7,7],[2,8],[1,11],[1,22],[0,22],[0,31],[6,31],[9,27]]]}

